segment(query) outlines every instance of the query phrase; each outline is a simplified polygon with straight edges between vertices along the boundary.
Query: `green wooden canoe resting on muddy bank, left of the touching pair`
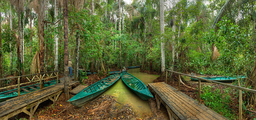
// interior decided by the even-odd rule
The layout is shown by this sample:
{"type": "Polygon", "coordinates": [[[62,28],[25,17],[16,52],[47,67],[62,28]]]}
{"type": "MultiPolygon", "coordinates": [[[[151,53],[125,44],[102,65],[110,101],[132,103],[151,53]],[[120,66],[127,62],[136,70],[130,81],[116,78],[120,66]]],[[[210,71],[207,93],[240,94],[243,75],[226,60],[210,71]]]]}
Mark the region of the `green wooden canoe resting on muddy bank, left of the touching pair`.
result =
{"type": "Polygon", "coordinates": [[[88,103],[93,98],[99,96],[110,88],[121,77],[122,73],[116,73],[112,76],[108,76],[76,94],[74,97],[68,100],[70,104],[80,108],[88,103]]]}

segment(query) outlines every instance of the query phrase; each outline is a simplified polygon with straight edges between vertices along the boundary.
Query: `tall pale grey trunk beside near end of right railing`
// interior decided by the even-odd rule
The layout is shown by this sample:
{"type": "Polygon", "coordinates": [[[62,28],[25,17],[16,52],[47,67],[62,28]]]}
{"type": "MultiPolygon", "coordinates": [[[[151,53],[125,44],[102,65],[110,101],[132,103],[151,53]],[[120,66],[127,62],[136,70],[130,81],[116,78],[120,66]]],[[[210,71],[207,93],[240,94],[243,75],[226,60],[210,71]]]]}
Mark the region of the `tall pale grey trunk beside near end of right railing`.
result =
{"type": "MultiPolygon", "coordinates": [[[[160,30],[161,34],[164,34],[164,0],[160,0],[160,30]]],[[[161,73],[163,75],[165,71],[165,43],[164,37],[161,36],[161,73]]]]}

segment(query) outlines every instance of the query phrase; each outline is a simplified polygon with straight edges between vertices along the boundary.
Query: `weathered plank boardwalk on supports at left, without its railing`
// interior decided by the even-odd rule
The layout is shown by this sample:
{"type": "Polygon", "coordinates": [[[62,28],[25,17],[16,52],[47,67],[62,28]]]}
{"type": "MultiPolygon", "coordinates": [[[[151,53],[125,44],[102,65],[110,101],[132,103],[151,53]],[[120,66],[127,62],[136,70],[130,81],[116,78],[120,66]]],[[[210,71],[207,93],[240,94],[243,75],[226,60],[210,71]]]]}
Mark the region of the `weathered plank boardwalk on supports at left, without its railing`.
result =
{"type": "MultiPolygon", "coordinates": [[[[70,77],[71,78],[71,77],[70,77]]],[[[60,78],[64,79],[63,78],[60,78]]],[[[74,77],[73,77],[74,79],[74,77]]],[[[69,79],[71,80],[71,79],[69,79]]],[[[79,81],[69,81],[69,86],[79,84],[79,81]]],[[[45,100],[52,100],[54,103],[58,99],[60,93],[64,92],[64,82],[45,87],[27,94],[15,97],[0,103],[0,120],[7,120],[21,112],[33,117],[38,105],[45,100]]]]}

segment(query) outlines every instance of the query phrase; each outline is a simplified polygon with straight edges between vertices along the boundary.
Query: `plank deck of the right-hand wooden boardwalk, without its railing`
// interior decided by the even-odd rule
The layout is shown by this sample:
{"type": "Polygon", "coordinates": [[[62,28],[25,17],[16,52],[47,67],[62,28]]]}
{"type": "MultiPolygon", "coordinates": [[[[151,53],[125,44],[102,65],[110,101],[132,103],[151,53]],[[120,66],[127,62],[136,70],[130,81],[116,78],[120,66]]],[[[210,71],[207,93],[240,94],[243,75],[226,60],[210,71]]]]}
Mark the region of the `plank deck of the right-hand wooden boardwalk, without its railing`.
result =
{"type": "Polygon", "coordinates": [[[227,120],[164,82],[149,83],[148,88],[156,96],[157,109],[159,110],[162,103],[168,111],[170,120],[227,120]]]}

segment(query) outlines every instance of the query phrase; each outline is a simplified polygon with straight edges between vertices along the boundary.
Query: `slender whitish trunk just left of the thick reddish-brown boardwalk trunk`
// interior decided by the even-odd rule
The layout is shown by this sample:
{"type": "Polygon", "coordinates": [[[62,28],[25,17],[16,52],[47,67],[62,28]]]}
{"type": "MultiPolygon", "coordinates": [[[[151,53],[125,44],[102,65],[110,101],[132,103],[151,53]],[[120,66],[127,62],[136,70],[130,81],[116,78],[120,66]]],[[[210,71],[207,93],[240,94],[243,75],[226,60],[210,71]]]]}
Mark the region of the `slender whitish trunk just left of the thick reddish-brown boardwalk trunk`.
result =
{"type": "MultiPolygon", "coordinates": [[[[54,18],[55,22],[58,21],[58,6],[57,0],[54,0],[54,18]]],[[[55,28],[58,27],[58,24],[55,24],[55,28]]],[[[58,70],[58,36],[54,33],[54,70],[58,70]]]]}

